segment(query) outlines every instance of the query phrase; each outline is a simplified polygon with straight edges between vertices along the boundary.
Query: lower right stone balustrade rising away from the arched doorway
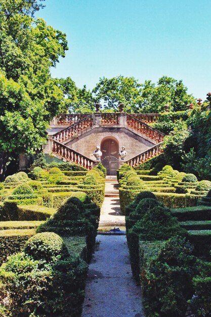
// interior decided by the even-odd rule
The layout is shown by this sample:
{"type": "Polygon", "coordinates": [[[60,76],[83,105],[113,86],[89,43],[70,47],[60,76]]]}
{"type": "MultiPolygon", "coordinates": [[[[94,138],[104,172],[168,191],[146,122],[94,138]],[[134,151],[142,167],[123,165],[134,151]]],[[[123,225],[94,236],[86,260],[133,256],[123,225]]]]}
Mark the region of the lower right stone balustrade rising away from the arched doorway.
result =
{"type": "Polygon", "coordinates": [[[156,145],[150,147],[148,150],[132,157],[131,160],[128,160],[125,163],[129,164],[132,167],[136,167],[139,164],[142,164],[142,163],[152,159],[152,157],[161,154],[163,152],[161,145],[162,145],[162,143],[156,144],[156,145]]]}

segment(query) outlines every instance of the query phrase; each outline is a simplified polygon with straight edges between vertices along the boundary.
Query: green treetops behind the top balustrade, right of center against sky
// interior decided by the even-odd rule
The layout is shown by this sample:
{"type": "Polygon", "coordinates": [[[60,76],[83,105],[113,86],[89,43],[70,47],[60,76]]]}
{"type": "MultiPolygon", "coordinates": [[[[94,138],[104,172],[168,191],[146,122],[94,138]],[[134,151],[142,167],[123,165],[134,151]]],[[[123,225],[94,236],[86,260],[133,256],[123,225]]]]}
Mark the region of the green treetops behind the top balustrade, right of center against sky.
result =
{"type": "Polygon", "coordinates": [[[114,111],[120,102],[125,104],[125,111],[142,113],[164,112],[165,104],[170,105],[171,111],[186,110],[187,104],[195,103],[182,81],[167,76],[161,77],[157,84],[151,81],[139,84],[134,77],[122,75],[111,79],[103,77],[93,93],[105,109],[113,108],[114,111]]]}

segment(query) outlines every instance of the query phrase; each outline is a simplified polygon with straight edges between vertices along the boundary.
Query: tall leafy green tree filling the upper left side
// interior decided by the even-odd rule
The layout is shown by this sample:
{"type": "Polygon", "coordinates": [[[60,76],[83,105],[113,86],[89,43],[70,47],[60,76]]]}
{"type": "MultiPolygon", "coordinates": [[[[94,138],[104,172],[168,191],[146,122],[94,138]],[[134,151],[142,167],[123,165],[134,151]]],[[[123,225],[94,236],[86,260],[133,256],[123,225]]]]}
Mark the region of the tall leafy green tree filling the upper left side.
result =
{"type": "Polygon", "coordinates": [[[64,109],[51,77],[65,56],[66,35],[34,13],[39,0],[0,0],[0,170],[14,153],[33,153],[46,142],[48,122],[64,109]]]}

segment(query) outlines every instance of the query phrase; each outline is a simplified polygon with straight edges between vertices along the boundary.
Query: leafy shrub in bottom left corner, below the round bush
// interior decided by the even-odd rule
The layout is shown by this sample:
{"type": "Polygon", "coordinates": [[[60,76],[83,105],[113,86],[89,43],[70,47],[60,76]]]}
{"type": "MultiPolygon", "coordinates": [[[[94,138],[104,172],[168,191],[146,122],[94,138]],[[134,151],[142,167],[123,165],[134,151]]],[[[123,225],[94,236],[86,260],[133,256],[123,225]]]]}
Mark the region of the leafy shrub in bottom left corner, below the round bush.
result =
{"type": "Polygon", "coordinates": [[[86,275],[87,264],[74,254],[48,264],[18,253],[1,267],[1,304],[10,316],[78,317],[86,275]]]}

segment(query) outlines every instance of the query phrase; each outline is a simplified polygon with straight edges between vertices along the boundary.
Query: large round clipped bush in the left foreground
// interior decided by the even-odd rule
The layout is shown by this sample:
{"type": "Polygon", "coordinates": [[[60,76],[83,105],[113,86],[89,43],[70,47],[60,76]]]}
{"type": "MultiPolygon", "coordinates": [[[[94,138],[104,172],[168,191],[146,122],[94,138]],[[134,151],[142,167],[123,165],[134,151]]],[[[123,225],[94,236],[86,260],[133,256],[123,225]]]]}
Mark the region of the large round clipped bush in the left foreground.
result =
{"type": "Polygon", "coordinates": [[[34,260],[45,260],[48,263],[68,256],[63,240],[54,232],[35,234],[27,241],[24,252],[34,260]]]}

